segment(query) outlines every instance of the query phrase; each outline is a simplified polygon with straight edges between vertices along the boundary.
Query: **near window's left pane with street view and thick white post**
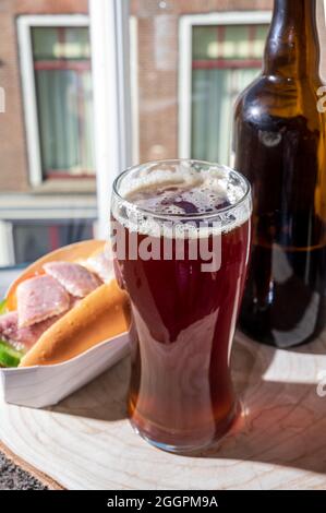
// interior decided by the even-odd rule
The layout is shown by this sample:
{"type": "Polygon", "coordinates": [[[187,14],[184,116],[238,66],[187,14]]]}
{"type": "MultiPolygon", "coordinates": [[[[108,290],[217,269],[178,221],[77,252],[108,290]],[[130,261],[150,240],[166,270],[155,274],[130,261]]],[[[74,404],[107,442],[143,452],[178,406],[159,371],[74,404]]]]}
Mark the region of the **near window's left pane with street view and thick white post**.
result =
{"type": "Polygon", "coordinates": [[[60,14],[58,2],[32,3],[1,10],[0,287],[8,266],[107,238],[110,186],[130,164],[129,2],[90,0],[89,16],[84,0],[61,2],[60,14]]]}

